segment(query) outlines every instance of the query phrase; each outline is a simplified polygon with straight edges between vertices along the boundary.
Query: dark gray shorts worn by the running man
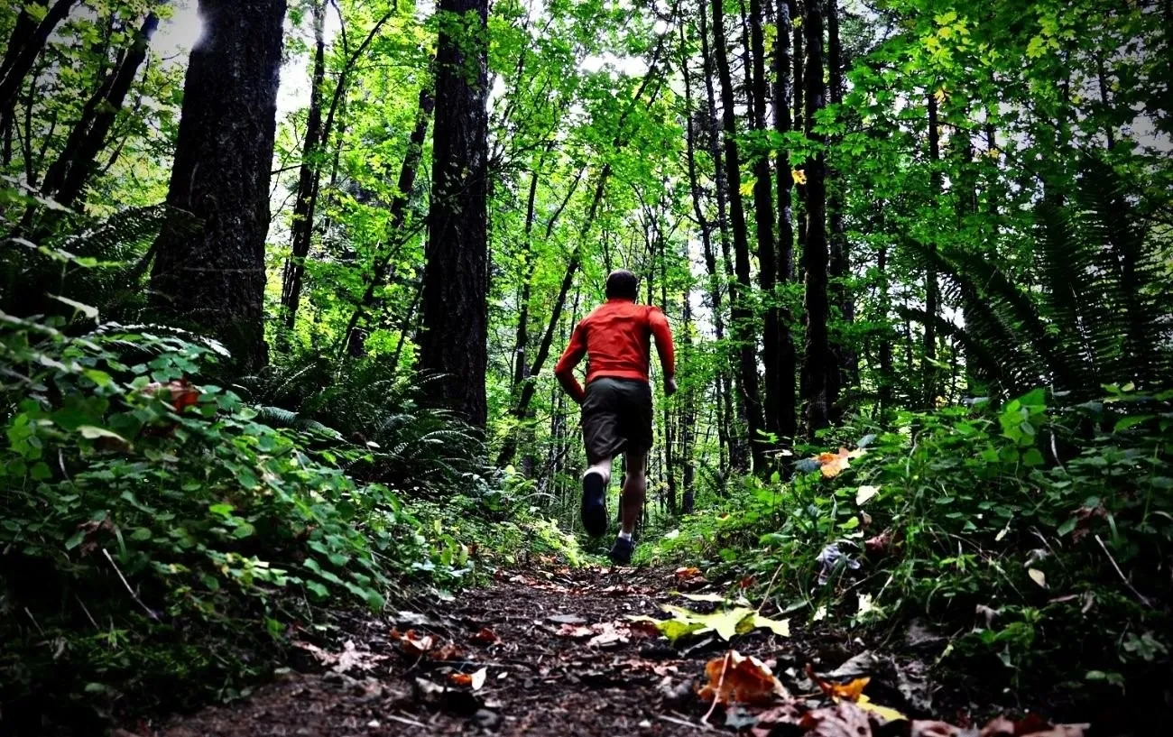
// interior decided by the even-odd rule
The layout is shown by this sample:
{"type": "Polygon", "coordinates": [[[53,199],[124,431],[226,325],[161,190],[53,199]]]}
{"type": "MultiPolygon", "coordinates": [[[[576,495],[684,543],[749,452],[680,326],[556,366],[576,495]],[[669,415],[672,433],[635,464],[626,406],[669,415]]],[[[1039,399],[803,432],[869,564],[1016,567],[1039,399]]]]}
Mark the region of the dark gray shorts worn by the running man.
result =
{"type": "Polygon", "coordinates": [[[652,447],[652,387],[638,379],[602,377],[586,385],[583,442],[588,462],[652,447]]]}

